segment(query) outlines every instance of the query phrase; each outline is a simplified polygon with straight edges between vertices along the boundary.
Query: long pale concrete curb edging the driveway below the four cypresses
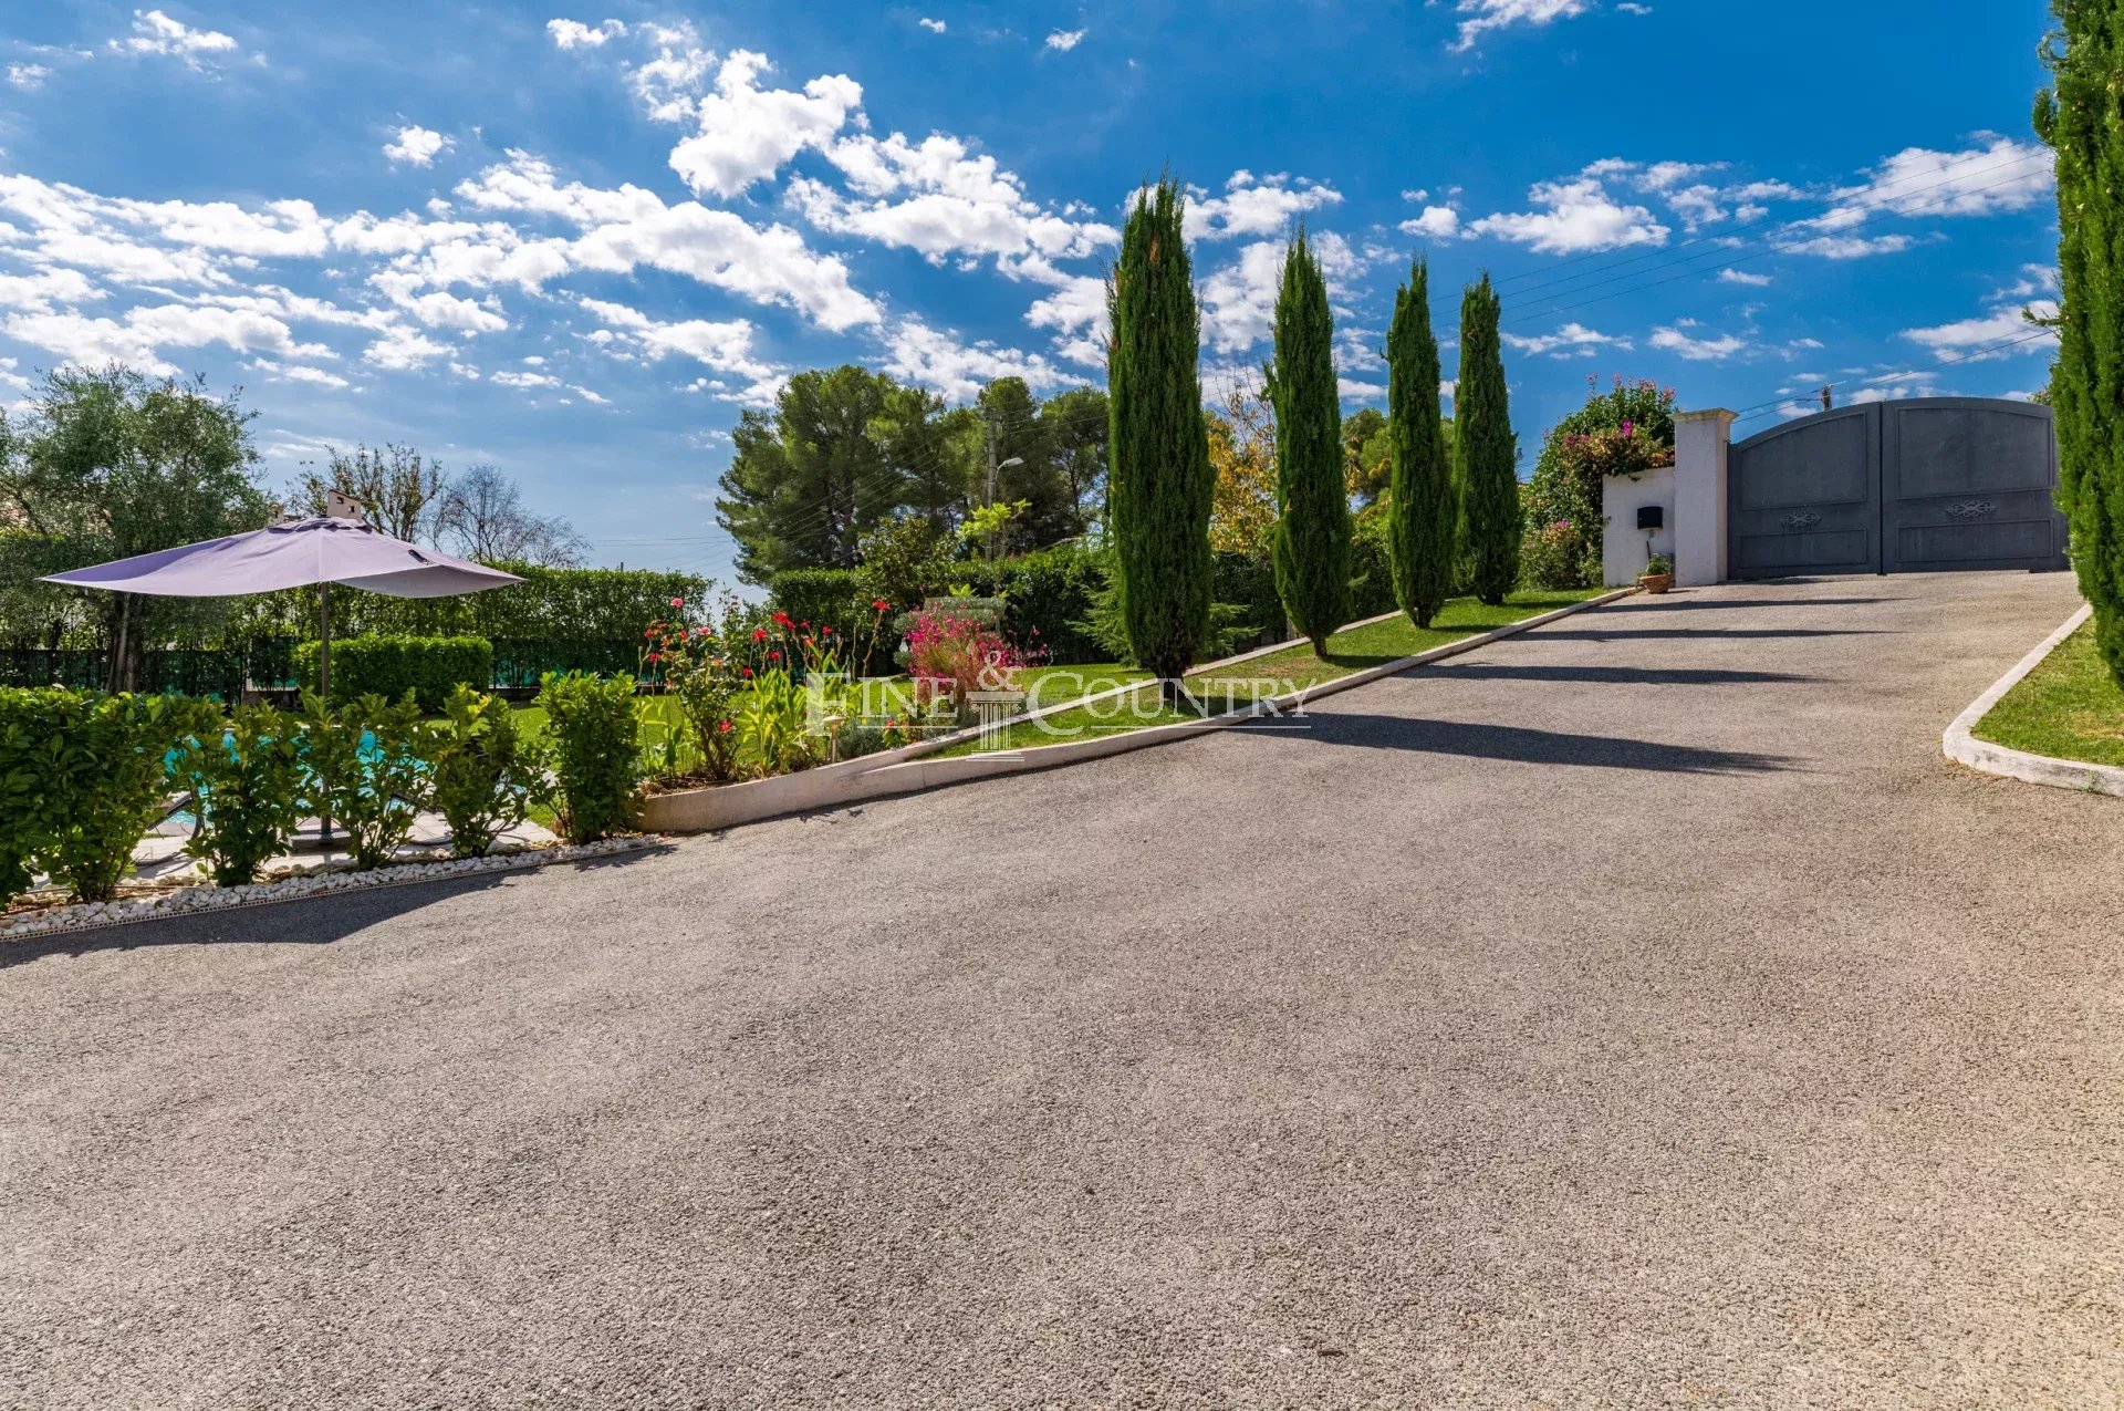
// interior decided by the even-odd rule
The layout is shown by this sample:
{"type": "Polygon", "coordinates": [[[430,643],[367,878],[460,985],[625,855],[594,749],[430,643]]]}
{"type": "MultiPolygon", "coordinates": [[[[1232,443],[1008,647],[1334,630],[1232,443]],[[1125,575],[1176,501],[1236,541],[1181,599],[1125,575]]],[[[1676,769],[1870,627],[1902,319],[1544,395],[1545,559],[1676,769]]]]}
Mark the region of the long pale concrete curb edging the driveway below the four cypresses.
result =
{"type": "MultiPolygon", "coordinates": [[[[1568,608],[1557,608],[1555,612],[1544,612],[1523,623],[1497,627],[1493,631],[1485,631],[1474,638],[1461,638],[1459,642],[1446,642],[1444,646],[1436,646],[1427,652],[1417,652],[1415,657],[1402,657],[1400,661],[1389,661],[1378,667],[1368,667],[1351,676],[1338,676],[1336,680],[1321,682],[1304,691],[1291,691],[1289,695],[1260,701],[1245,710],[1234,710],[1221,716],[1211,716],[1206,720],[1153,725],[1138,731],[1117,731],[1113,735],[1100,735],[1096,740],[1043,744],[1030,750],[1009,750],[994,754],[958,754],[952,759],[903,756],[896,763],[888,763],[884,767],[867,771],[852,771],[847,765],[856,765],[862,761],[847,761],[847,765],[828,765],[824,769],[807,769],[803,774],[784,774],[769,780],[754,780],[750,784],[724,784],[720,788],[697,788],[686,793],[656,795],[644,801],[641,824],[656,833],[712,833],[743,822],[780,818],[786,814],[811,814],[820,810],[847,808],[852,803],[862,803],[867,799],[888,799],[896,795],[924,793],[928,788],[943,788],[947,784],[966,784],[971,780],[988,780],[1005,774],[1034,774],[1039,769],[1077,765],[1090,759],[1109,759],[1113,754],[1128,754],[1132,750],[1149,750],[1153,746],[1172,744],[1175,740],[1192,740],[1194,735],[1202,735],[1209,731],[1245,725],[1262,716],[1287,714],[1321,697],[1336,695],[1340,691],[1355,691],[1357,686],[1381,680],[1383,676],[1395,676],[1400,672],[1408,672],[1410,667],[1429,665],[1432,661],[1459,657],[1461,652],[1472,652],[1480,646],[1489,646],[1491,642],[1514,638],[1523,631],[1544,627],[1548,623],[1568,618],[1589,608],[1601,608],[1606,604],[1631,597],[1633,593],[1638,593],[1638,589],[1631,586],[1631,589],[1621,589],[1616,593],[1604,593],[1601,597],[1589,597],[1582,604],[1570,604],[1568,608]]],[[[1247,654],[1247,659],[1251,657],[1253,652],[1247,654]]],[[[1132,691],[1132,686],[1124,691],[1132,691]]],[[[1083,699],[1070,701],[1070,706],[1083,706],[1083,703],[1085,703],[1083,699]]]]}

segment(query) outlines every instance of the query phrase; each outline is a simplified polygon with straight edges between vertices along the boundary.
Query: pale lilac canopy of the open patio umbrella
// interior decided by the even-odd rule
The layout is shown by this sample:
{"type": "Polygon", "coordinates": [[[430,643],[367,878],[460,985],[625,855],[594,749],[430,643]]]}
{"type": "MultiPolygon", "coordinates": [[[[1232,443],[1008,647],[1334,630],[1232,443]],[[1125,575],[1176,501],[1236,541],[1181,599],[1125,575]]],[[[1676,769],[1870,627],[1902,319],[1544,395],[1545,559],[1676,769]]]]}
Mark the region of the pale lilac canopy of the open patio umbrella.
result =
{"type": "Polygon", "coordinates": [[[523,582],[516,574],[418,548],[350,518],[297,518],[272,529],[115,559],[40,582],[153,597],[238,597],[344,582],[391,597],[452,597],[523,582]]]}

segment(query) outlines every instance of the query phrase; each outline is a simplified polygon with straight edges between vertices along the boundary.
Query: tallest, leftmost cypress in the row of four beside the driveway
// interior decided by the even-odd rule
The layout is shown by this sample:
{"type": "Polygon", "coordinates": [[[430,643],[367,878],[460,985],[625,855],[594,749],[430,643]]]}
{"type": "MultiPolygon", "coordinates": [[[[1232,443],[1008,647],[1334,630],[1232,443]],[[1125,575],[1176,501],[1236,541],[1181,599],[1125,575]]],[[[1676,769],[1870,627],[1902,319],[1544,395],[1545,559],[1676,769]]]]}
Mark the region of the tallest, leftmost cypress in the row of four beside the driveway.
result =
{"type": "Polygon", "coordinates": [[[1115,589],[1136,661],[1168,682],[1209,638],[1209,508],[1215,474],[1202,429],[1202,323],[1170,176],[1136,196],[1107,289],[1107,465],[1115,589]]]}

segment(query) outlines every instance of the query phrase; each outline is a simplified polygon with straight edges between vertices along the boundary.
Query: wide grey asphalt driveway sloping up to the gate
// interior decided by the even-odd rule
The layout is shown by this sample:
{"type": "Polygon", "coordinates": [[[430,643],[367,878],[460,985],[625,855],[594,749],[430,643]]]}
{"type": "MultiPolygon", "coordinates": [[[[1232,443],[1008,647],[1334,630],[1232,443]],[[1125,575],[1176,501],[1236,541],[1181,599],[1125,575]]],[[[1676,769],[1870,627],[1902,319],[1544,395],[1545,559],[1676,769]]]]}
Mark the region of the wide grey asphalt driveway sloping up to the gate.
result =
{"type": "Polygon", "coordinates": [[[2071,608],[0,948],[0,1398],[2120,1405],[2124,808],[1939,756],[2071,608]]]}

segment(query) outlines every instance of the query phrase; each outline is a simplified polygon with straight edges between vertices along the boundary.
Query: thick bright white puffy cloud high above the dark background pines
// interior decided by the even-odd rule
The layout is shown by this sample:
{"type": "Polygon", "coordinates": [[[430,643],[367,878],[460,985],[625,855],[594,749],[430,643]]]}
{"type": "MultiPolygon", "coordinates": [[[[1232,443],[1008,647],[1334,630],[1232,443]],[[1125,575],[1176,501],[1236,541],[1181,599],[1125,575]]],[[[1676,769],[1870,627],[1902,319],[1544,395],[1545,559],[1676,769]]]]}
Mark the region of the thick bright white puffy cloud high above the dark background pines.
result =
{"type": "Polygon", "coordinates": [[[760,89],[767,55],[739,49],[716,72],[716,91],[695,113],[701,130],[671,149],[671,170],[697,196],[737,196],[773,176],[807,147],[824,147],[850,117],[862,119],[862,85],[847,74],[811,79],[801,94],[760,89]]]}

